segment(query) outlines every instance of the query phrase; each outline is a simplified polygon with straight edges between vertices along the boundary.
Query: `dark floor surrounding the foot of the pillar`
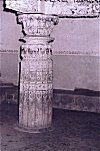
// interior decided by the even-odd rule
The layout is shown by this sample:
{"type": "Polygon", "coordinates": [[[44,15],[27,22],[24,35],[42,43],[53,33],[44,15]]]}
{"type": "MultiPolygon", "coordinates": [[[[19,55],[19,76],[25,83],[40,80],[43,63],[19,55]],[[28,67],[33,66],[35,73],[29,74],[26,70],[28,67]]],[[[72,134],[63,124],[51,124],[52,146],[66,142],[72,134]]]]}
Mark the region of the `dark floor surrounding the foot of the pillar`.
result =
{"type": "Polygon", "coordinates": [[[54,131],[29,134],[14,129],[17,106],[0,106],[1,151],[100,151],[100,114],[56,109],[54,131]]]}

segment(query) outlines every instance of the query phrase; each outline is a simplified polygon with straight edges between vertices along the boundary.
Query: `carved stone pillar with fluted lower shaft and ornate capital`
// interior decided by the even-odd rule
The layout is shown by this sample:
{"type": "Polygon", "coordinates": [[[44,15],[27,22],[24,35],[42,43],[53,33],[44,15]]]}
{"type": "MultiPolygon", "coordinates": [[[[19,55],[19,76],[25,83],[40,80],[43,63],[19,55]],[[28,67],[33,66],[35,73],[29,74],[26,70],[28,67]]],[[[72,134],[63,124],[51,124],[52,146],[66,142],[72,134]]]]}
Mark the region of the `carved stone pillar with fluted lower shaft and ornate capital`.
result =
{"type": "Polygon", "coordinates": [[[52,124],[53,68],[50,37],[57,16],[20,14],[25,43],[21,46],[19,128],[29,131],[52,124]]]}

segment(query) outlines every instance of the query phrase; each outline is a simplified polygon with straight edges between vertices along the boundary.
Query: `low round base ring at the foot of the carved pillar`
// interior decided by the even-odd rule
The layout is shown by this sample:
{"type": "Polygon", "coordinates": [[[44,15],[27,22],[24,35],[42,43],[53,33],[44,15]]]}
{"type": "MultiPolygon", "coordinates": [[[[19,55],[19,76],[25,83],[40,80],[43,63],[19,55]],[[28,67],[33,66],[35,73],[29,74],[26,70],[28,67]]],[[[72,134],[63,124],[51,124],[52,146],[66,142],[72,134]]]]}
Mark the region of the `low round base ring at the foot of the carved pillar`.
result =
{"type": "Polygon", "coordinates": [[[46,132],[51,132],[54,130],[53,126],[47,127],[47,128],[29,128],[29,127],[23,127],[19,124],[14,125],[14,129],[20,132],[25,132],[25,133],[46,133],[46,132]]]}

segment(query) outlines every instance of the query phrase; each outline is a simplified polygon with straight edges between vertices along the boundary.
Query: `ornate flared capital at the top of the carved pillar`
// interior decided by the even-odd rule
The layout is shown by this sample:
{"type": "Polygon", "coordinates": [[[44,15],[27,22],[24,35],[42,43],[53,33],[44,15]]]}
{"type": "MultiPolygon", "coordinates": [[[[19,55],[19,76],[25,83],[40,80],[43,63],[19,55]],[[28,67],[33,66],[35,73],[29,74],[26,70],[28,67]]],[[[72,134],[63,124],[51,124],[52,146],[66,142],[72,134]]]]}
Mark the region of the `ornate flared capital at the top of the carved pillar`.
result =
{"type": "Polygon", "coordinates": [[[23,31],[28,36],[49,36],[58,16],[44,14],[20,14],[18,20],[23,24],[23,31]]]}

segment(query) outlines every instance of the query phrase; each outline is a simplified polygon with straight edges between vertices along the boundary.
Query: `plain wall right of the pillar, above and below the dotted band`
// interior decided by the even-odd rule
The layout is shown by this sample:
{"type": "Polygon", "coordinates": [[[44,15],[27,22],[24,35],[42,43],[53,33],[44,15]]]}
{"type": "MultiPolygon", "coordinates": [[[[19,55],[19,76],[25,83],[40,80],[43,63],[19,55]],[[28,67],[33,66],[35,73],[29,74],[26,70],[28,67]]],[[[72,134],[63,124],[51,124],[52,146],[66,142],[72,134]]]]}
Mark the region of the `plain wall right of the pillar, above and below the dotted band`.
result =
{"type": "MultiPolygon", "coordinates": [[[[61,19],[52,36],[54,51],[100,53],[99,19],[61,19]]],[[[54,88],[100,89],[100,57],[54,55],[54,88]]]]}

